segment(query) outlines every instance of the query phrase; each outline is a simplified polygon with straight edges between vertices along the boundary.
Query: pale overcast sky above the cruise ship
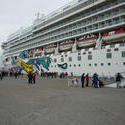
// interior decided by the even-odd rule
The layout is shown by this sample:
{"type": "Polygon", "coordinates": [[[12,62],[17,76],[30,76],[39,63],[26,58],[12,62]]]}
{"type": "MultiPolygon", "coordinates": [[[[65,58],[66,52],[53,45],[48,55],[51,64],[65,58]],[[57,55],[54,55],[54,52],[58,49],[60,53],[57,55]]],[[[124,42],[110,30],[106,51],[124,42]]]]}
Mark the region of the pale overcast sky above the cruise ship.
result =
{"type": "Polygon", "coordinates": [[[72,0],[0,0],[0,42],[32,24],[36,13],[51,13],[72,0]]]}

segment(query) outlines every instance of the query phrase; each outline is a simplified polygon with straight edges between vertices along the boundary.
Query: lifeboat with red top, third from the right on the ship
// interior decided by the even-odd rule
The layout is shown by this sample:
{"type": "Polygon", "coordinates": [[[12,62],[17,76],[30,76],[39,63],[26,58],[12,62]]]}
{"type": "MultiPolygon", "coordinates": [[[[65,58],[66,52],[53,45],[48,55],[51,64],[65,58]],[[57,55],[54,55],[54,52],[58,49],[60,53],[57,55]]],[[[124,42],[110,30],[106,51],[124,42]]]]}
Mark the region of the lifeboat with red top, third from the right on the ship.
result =
{"type": "Polygon", "coordinates": [[[64,50],[69,50],[72,48],[74,42],[73,41],[64,41],[59,44],[59,50],[64,51],[64,50]]]}

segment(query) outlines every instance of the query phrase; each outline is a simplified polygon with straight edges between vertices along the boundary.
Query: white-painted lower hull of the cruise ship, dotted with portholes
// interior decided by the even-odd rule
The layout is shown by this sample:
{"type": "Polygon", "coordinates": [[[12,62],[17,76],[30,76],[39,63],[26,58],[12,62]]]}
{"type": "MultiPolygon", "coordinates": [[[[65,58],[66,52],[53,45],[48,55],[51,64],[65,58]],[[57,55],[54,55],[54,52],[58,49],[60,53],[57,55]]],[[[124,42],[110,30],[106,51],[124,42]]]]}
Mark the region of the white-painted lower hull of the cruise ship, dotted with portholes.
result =
{"type": "MultiPolygon", "coordinates": [[[[90,75],[93,75],[96,72],[99,76],[114,76],[118,72],[125,72],[125,57],[122,57],[122,52],[125,51],[125,46],[119,47],[119,51],[114,51],[115,48],[110,49],[112,58],[109,59],[106,57],[106,48],[101,50],[92,50],[91,54],[88,54],[89,51],[85,51],[86,54],[83,54],[82,50],[81,52],[74,52],[70,54],[67,52],[63,54],[63,62],[61,62],[62,54],[50,55],[52,62],[49,66],[49,72],[58,71],[58,73],[67,72],[68,74],[73,72],[75,76],[80,76],[83,72],[89,73],[90,75]],[[81,60],[78,60],[78,55],[81,56],[81,60]],[[91,60],[88,60],[89,55],[92,55],[91,60]],[[72,61],[69,61],[70,57],[72,58],[72,61]],[[54,59],[57,59],[57,62],[54,62],[54,59]],[[67,69],[61,69],[57,66],[58,64],[63,63],[67,63],[67,69]]],[[[10,68],[10,65],[10,62],[6,63],[6,67],[10,68]]]]}

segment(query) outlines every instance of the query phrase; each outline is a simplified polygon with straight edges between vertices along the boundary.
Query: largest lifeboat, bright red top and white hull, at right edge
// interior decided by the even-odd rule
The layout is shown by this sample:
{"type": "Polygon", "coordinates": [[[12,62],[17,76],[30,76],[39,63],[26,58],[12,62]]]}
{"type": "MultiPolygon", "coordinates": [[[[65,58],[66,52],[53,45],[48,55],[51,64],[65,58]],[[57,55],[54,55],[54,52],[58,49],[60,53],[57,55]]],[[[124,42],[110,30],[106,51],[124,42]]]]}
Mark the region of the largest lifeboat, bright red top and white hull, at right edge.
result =
{"type": "Polygon", "coordinates": [[[105,42],[115,42],[115,40],[122,40],[123,38],[125,38],[125,29],[122,28],[120,30],[104,33],[102,36],[102,40],[105,42]]]}

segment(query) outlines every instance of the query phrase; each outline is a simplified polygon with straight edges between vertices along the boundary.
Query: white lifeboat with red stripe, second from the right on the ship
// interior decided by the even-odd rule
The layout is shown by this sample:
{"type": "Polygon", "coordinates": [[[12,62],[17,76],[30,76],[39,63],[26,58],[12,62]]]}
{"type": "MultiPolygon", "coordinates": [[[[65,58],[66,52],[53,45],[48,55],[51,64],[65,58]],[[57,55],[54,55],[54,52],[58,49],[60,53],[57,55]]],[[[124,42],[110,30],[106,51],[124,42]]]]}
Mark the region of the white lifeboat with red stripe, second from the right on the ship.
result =
{"type": "Polygon", "coordinates": [[[78,47],[86,47],[86,46],[91,46],[96,43],[97,36],[93,34],[89,34],[86,36],[83,36],[78,39],[78,47]]]}

